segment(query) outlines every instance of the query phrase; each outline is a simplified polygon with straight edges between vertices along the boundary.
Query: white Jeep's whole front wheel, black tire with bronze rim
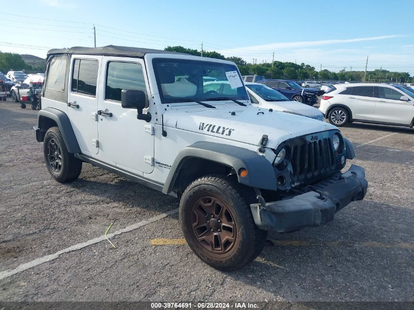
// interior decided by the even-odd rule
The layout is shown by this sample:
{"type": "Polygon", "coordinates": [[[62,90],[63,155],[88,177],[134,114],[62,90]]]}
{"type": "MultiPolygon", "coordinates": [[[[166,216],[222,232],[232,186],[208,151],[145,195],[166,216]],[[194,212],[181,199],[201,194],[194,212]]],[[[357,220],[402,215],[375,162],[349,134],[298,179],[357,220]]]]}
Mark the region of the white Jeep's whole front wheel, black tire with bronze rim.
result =
{"type": "Polygon", "coordinates": [[[205,263],[219,270],[235,270],[252,262],[268,235],[254,223],[250,188],[224,175],[209,175],[192,182],[180,201],[180,222],[185,239],[205,263]]]}

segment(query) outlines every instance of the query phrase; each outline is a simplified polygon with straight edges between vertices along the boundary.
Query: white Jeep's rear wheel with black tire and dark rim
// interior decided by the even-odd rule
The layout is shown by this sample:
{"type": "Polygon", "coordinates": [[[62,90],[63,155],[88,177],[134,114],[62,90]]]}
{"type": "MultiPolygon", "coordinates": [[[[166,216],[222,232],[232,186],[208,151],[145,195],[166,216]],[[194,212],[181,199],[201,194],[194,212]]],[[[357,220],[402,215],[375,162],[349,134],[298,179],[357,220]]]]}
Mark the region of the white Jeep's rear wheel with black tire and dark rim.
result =
{"type": "Polygon", "coordinates": [[[58,127],[51,127],[46,132],[43,154],[48,171],[56,181],[67,183],[79,177],[82,161],[68,152],[58,127]]]}

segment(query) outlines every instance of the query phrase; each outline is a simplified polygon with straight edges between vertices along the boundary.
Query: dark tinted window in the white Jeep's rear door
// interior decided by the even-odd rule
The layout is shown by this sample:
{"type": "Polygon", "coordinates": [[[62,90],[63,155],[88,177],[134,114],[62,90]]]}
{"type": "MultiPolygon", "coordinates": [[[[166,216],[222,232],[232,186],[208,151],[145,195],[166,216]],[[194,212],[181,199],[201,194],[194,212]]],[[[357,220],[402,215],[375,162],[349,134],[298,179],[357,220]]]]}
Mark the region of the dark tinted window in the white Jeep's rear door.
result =
{"type": "Polygon", "coordinates": [[[98,65],[95,59],[75,59],[72,74],[73,93],[97,95],[98,65]]]}

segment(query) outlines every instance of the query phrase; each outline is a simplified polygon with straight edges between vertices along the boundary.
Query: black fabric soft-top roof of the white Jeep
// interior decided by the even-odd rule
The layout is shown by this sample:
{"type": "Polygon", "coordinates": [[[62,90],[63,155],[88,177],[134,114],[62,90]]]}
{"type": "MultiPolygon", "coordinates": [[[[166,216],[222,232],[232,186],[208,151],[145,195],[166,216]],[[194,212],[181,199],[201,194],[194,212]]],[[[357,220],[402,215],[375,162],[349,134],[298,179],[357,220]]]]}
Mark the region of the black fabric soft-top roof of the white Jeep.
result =
{"type": "Polygon", "coordinates": [[[172,52],[162,49],[151,48],[131,48],[131,47],[119,47],[115,45],[108,45],[100,48],[85,48],[85,47],[73,47],[73,48],[54,48],[48,51],[48,57],[52,54],[85,54],[85,55],[107,55],[107,56],[127,56],[143,58],[145,54],[178,54],[188,55],[185,53],[172,52]]]}

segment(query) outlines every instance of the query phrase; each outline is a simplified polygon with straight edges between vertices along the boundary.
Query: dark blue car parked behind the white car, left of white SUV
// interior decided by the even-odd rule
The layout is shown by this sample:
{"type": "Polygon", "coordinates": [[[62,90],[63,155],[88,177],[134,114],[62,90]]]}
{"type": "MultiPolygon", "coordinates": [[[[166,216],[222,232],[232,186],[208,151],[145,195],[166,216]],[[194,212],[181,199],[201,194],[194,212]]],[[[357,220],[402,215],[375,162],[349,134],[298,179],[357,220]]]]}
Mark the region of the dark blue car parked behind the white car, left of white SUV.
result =
{"type": "Polygon", "coordinates": [[[303,88],[297,83],[288,80],[261,80],[257,81],[257,83],[265,84],[294,101],[308,105],[317,103],[317,95],[320,93],[315,88],[303,88]]]}

